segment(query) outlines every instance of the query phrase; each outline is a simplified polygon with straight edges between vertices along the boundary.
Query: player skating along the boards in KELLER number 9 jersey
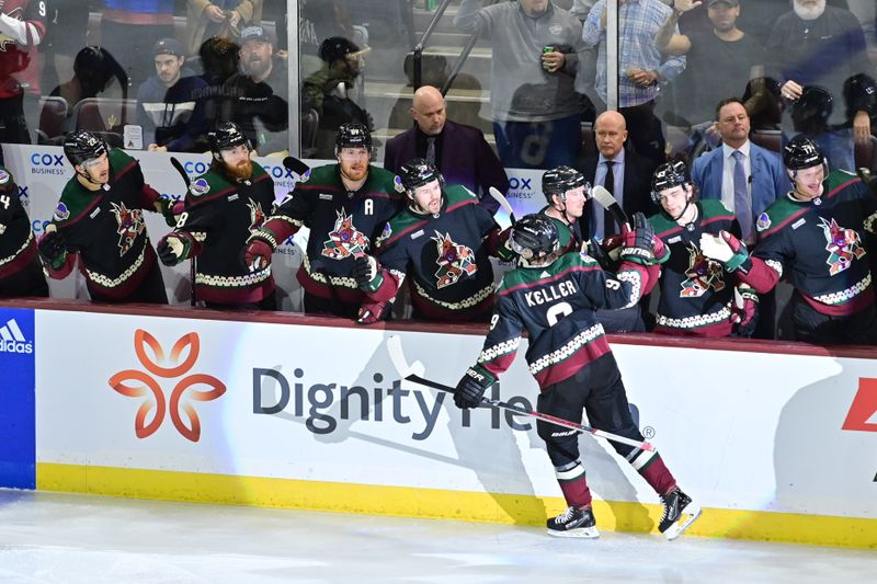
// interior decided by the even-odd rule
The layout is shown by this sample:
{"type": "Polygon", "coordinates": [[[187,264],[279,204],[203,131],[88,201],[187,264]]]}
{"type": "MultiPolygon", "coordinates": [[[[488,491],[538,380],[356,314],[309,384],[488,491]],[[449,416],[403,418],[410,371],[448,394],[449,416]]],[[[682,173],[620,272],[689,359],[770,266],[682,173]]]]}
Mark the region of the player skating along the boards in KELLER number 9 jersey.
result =
{"type": "MultiPolygon", "coordinates": [[[[601,270],[586,254],[563,254],[557,227],[544,215],[528,215],[514,225],[509,243],[521,255],[521,265],[503,276],[497,290],[483,350],[454,393],[457,406],[478,405],[497,376],[512,364],[526,330],[526,359],[542,390],[537,411],[581,423],[584,410],[594,428],[642,440],[615,357],[594,316],[596,307],[633,306],[653,284],[654,255],[663,255],[662,243],[641,214],[635,224],[625,234],[617,276],[601,270]]],[[[543,421],[537,428],[569,505],[548,519],[548,534],[597,537],[578,434],[543,421]]],[[[618,443],[613,447],[660,495],[664,513],[659,530],[668,539],[679,537],[697,518],[699,507],[679,489],[657,451],[618,443]]]]}

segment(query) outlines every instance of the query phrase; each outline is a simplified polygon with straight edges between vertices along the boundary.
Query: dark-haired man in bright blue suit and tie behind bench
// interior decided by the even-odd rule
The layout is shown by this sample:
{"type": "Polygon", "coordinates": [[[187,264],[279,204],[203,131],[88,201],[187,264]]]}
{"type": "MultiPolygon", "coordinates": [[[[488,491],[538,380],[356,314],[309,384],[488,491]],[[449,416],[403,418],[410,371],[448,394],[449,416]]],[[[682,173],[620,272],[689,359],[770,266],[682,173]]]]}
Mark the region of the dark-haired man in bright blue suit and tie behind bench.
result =
{"type": "MultiPolygon", "coordinates": [[[[701,198],[718,198],[740,222],[742,240],[752,245],[756,239],[755,218],[791,187],[783,162],[774,152],[749,140],[749,114],[737,98],[716,106],[716,127],[721,148],[694,160],[692,180],[701,198]]],[[[756,339],[775,336],[776,299],[774,290],[760,295],[756,339]]]]}

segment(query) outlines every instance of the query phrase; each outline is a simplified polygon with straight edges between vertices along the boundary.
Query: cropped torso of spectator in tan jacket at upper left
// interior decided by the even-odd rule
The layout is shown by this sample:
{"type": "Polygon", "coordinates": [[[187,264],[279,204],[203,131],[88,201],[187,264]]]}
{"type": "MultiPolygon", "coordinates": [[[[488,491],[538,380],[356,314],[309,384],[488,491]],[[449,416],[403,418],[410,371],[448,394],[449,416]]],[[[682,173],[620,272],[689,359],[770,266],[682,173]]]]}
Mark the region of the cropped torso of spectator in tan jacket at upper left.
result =
{"type": "Polygon", "coordinates": [[[205,38],[238,41],[248,24],[262,22],[262,0],[186,0],[185,50],[195,55],[205,38]]]}

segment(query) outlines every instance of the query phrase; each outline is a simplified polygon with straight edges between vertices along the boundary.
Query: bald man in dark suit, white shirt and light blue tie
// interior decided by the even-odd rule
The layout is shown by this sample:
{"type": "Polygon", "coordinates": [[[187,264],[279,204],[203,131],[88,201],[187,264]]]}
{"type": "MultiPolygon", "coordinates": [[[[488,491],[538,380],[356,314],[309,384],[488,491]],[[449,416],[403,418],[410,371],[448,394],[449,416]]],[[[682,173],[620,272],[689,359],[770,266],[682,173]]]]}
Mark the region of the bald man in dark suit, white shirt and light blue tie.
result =
{"type": "MultiPolygon", "coordinates": [[[[628,216],[637,211],[646,216],[657,213],[649,183],[657,163],[624,147],[627,140],[624,116],[613,110],[600,114],[594,122],[594,139],[600,153],[584,159],[584,178],[593,185],[606,187],[628,216]]],[[[619,232],[620,226],[612,215],[595,201],[589,205],[582,217],[582,233],[586,239],[595,237],[602,240],[619,232]]]]}

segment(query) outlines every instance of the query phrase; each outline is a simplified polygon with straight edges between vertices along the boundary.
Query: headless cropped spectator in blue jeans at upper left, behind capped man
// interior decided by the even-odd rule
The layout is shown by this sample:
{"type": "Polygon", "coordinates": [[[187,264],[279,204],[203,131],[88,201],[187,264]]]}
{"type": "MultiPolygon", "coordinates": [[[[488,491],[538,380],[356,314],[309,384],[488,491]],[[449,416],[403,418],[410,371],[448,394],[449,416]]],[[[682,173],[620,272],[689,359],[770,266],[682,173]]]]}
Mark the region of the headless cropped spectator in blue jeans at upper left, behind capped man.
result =
{"type": "Polygon", "coordinates": [[[103,0],[101,47],[125,69],[132,84],[145,81],[152,72],[149,50],[138,38],[173,36],[173,0],[103,0]]]}

